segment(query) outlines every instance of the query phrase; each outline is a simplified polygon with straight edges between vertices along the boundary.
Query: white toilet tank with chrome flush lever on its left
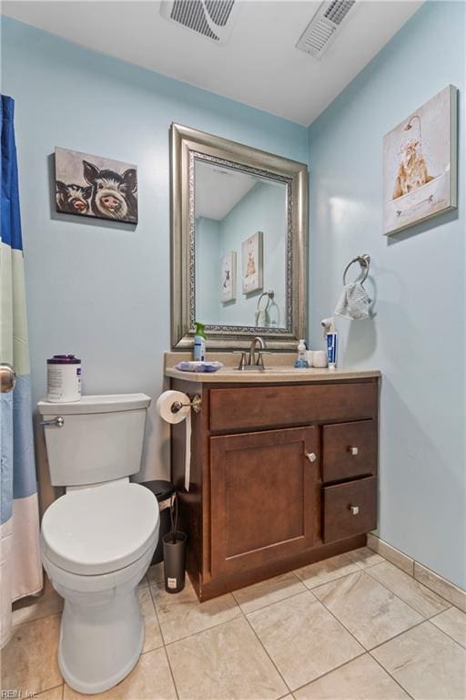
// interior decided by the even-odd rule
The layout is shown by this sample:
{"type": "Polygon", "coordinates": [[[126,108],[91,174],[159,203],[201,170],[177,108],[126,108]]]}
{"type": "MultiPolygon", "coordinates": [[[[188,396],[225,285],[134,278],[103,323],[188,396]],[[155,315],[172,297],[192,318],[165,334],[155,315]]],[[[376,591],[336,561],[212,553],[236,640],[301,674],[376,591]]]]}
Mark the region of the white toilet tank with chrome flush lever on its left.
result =
{"type": "Polygon", "coordinates": [[[83,486],[137,474],[149,405],[146,394],[39,401],[41,421],[51,421],[44,432],[52,484],[83,486]]]}

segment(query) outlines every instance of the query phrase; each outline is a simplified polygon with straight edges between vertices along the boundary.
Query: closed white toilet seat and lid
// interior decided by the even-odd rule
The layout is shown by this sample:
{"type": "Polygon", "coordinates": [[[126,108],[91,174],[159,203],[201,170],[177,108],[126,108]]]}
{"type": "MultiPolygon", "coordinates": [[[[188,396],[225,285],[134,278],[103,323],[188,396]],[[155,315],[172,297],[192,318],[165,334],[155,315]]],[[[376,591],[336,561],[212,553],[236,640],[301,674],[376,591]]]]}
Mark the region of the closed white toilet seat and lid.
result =
{"type": "Polygon", "coordinates": [[[118,571],[150,549],[158,521],[157,499],[139,484],[118,481],[70,490],[44,514],[42,551],[72,573],[118,571]]]}

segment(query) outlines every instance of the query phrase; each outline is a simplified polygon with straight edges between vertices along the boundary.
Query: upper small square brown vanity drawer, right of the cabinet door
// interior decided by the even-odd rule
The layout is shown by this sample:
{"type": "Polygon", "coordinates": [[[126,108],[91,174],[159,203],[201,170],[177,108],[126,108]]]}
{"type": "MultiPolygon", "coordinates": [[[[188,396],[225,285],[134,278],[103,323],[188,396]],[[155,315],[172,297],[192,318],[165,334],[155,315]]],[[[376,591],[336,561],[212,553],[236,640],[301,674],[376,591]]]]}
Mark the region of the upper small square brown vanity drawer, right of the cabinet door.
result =
{"type": "Polygon", "coordinates": [[[377,465],[377,421],[324,426],[323,481],[354,479],[375,473],[377,465]]]}

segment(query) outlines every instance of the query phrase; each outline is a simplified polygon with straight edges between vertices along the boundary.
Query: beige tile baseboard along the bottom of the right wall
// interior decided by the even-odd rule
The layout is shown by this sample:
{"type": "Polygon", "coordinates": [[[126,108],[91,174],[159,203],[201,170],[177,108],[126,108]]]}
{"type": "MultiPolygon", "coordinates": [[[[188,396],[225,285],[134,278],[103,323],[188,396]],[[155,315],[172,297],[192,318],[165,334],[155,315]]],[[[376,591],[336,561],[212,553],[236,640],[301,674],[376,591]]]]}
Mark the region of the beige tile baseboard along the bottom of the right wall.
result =
{"type": "Polygon", "coordinates": [[[463,612],[466,612],[466,591],[456,586],[451,581],[444,579],[440,574],[431,571],[419,561],[415,561],[403,551],[397,550],[391,544],[380,540],[380,537],[370,532],[368,535],[368,547],[372,551],[376,551],[380,556],[390,561],[395,566],[398,566],[401,571],[408,573],[416,581],[423,583],[431,591],[438,593],[446,601],[456,605],[463,612]]]}

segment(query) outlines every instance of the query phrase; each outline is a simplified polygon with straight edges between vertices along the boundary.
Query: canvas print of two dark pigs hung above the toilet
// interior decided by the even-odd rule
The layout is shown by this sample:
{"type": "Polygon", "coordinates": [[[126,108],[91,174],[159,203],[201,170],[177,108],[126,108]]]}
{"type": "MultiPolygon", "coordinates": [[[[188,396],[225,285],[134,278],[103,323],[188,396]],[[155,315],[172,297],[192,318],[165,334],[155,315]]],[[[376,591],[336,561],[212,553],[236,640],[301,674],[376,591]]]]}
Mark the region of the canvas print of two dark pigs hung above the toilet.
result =
{"type": "Polygon", "coordinates": [[[55,149],[56,211],[137,223],[137,167],[55,149]]]}

